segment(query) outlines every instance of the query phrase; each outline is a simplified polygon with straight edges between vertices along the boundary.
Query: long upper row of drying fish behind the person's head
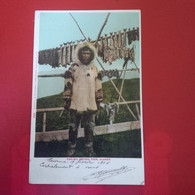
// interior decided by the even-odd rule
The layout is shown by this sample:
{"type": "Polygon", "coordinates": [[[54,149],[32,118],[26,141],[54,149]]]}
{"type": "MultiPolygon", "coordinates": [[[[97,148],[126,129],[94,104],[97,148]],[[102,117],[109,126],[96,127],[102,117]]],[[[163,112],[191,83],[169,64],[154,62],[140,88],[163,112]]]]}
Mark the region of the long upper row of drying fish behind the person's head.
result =
{"type": "MultiPolygon", "coordinates": [[[[139,28],[124,29],[123,32],[105,34],[96,43],[97,55],[110,65],[117,59],[135,60],[134,48],[127,48],[133,41],[139,41],[139,28]]],[[[39,51],[39,64],[49,64],[53,68],[70,65],[74,62],[75,50],[79,43],[85,40],[67,42],[60,47],[39,51]]],[[[91,41],[92,43],[95,41],[91,41]]]]}

